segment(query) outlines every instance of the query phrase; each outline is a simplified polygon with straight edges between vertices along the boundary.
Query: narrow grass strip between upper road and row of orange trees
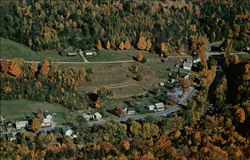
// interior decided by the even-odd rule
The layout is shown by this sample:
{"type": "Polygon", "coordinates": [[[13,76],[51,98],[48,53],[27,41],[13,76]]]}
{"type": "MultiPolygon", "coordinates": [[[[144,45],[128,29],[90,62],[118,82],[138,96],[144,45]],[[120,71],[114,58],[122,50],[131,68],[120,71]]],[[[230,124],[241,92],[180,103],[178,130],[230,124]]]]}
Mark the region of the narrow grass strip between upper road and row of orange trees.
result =
{"type": "MultiPolygon", "coordinates": [[[[98,52],[97,56],[86,56],[87,60],[90,62],[103,62],[103,61],[120,61],[120,60],[133,60],[133,57],[136,57],[138,50],[101,50],[98,52]]],[[[143,57],[145,58],[156,58],[155,54],[149,53],[147,51],[141,51],[143,57]]]]}

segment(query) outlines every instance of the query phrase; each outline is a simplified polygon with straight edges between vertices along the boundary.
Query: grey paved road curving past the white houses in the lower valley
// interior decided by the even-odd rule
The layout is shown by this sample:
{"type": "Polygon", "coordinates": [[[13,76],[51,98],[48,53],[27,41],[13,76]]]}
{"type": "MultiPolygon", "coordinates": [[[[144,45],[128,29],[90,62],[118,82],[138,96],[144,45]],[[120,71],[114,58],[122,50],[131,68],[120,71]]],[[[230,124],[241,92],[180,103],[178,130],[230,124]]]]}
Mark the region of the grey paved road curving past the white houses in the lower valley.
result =
{"type": "Polygon", "coordinates": [[[175,105],[172,108],[169,108],[167,110],[161,111],[161,112],[156,112],[156,113],[150,113],[150,114],[143,114],[143,115],[133,115],[133,116],[127,116],[124,118],[116,118],[116,119],[108,119],[108,120],[99,120],[99,121],[92,121],[88,122],[88,124],[95,125],[95,124],[102,124],[108,121],[115,121],[115,122],[122,122],[122,121],[127,121],[128,119],[133,119],[133,120],[138,120],[138,119],[144,119],[147,116],[153,116],[153,117],[159,117],[159,116],[165,116],[168,115],[172,112],[176,112],[181,109],[182,105],[185,105],[187,100],[192,97],[192,95],[196,92],[195,88],[190,88],[189,92],[187,92],[184,97],[180,100],[180,102],[175,105]]]}

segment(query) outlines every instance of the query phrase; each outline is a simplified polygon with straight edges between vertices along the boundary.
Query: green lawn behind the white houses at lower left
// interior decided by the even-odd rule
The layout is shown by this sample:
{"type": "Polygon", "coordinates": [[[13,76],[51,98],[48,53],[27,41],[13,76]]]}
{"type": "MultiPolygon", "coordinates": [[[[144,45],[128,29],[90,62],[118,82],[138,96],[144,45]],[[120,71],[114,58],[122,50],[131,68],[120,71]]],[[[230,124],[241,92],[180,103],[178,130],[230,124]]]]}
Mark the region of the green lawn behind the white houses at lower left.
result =
{"type": "Polygon", "coordinates": [[[26,116],[37,113],[37,111],[55,112],[58,115],[64,115],[68,109],[59,104],[51,104],[47,102],[34,102],[28,100],[8,100],[1,101],[1,115],[8,120],[22,120],[26,116]]]}

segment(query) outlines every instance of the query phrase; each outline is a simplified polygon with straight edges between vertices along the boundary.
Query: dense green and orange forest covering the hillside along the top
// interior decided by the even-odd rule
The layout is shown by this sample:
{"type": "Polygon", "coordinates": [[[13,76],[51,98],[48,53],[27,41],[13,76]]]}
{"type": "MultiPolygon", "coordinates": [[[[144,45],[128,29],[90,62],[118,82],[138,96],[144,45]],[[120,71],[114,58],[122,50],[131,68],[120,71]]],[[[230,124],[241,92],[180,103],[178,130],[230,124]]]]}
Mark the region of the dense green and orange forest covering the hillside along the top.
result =
{"type": "Polygon", "coordinates": [[[202,37],[250,45],[247,0],[19,0],[2,1],[0,36],[34,50],[121,49],[194,53],[202,37]],[[99,43],[98,43],[99,42],[99,43]],[[138,44],[140,43],[140,44],[138,44]],[[98,44],[98,45],[97,45],[98,44]]]}

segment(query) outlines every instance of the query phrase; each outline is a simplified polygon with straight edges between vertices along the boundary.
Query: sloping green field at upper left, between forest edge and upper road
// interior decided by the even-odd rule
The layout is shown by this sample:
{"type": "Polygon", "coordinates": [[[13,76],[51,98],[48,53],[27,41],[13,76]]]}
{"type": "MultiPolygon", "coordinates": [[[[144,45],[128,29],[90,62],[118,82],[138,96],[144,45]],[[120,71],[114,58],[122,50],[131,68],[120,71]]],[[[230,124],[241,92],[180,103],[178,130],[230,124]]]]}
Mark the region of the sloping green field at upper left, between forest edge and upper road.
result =
{"type": "Polygon", "coordinates": [[[5,38],[0,37],[0,53],[1,58],[22,58],[27,61],[42,61],[50,59],[53,61],[69,61],[69,62],[82,62],[82,58],[77,55],[76,57],[62,57],[58,55],[57,51],[43,51],[35,52],[29,47],[5,38]]]}

